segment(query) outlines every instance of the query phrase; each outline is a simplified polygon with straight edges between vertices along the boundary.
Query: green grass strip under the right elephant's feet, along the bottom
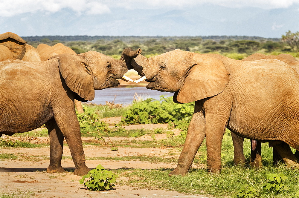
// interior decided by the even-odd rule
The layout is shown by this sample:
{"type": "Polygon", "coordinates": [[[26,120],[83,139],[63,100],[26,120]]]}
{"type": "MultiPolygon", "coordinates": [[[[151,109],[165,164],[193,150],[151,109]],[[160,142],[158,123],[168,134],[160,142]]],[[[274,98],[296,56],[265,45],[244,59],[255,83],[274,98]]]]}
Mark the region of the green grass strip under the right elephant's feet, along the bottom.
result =
{"type": "Polygon", "coordinates": [[[129,179],[119,180],[119,185],[175,190],[182,193],[196,193],[216,197],[231,197],[244,184],[256,188],[260,197],[294,197],[299,188],[299,171],[285,168],[284,165],[280,165],[279,168],[267,165],[260,170],[230,166],[224,167],[219,175],[209,174],[205,168],[191,169],[187,176],[169,177],[168,174],[172,170],[168,168],[156,170],[122,168],[114,171],[120,177],[129,179]],[[282,173],[287,176],[289,179],[285,180],[284,185],[288,186],[289,190],[279,194],[264,191],[262,184],[267,182],[266,174],[268,173],[282,173]]]}

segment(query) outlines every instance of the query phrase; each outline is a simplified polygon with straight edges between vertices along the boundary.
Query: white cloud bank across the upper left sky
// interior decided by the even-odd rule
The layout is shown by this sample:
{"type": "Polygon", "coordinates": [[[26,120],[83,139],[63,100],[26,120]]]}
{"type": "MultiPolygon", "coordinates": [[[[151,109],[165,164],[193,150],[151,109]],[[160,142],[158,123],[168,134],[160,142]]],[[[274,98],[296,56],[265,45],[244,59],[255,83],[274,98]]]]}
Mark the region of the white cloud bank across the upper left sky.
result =
{"type": "Polygon", "coordinates": [[[95,0],[0,0],[0,16],[10,17],[22,13],[35,13],[37,11],[58,12],[69,8],[79,14],[109,13],[106,4],[95,0]]]}

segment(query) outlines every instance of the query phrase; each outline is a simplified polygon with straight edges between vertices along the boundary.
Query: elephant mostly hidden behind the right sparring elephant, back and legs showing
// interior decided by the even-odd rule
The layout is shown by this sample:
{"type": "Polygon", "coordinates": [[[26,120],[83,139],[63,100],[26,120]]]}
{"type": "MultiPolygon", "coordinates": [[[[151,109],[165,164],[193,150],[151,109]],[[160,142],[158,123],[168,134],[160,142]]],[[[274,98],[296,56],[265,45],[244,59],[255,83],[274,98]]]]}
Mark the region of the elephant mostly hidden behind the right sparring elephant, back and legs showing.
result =
{"type": "MultiPolygon", "coordinates": [[[[292,67],[297,73],[299,73],[299,62],[290,54],[279,54],[275,55],[265,55],[261,53],[254,53],[248,56],[242,61],[254,61],[260,59],[277,59],[287,63],[290,67],[292,67]]],[[[234,162],[235,164],[245,164],[245,156],[243,153],[243,141],[244,138],[237,136],[232,133],[232,138],[234,142],[234,162]]],[[[261,143],[256,140],[251,140],[256,145],[251,148],[251,166],[255,168],[260,168],[262,165],[261,162],[261,143]],[[253,148],[254,147],[254,148],[253,148]]],[[[299,159],[299,151],[295,152],[295,157],[299,159]]],[[[275,148],[273,148],[273,164],[277,164],[277,162],[282,161],[281,157],[278,155],[275,148]]]]}

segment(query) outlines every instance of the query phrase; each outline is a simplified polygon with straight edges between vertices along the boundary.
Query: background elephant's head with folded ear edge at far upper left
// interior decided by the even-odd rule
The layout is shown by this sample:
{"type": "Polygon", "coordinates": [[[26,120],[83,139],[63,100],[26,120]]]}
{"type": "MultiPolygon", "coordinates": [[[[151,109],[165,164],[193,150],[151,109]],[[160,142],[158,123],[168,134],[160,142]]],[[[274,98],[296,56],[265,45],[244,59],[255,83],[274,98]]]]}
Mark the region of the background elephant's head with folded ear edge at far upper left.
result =
{"type": "Polygon", "coordinates": [[[15,59],[22,60],[26,52],[26,43],[24,39],[14,33],[0,34],[0,44],[7,47],[15,59]]]}

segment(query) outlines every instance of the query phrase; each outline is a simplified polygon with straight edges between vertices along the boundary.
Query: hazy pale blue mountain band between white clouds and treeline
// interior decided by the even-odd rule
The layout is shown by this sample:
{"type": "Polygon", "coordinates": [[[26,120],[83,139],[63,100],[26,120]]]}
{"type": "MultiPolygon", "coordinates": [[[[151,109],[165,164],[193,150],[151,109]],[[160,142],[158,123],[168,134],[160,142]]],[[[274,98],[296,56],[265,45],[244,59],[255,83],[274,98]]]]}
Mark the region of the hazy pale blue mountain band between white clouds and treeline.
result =
{"type": "Polygon", "coordinates": [[[0,33],[33,35],[207,36],[247,35],[281,38],[299,31],[299,5],[265,10],[202,4],[184,10],[120,9],[84,15],[70,9],[24,13],[0,19],[0,33]]]}

